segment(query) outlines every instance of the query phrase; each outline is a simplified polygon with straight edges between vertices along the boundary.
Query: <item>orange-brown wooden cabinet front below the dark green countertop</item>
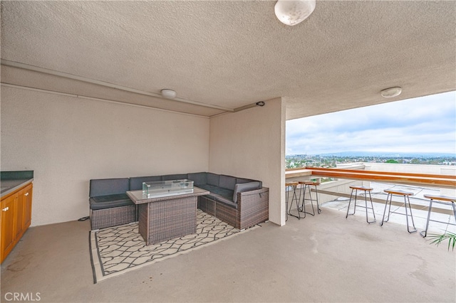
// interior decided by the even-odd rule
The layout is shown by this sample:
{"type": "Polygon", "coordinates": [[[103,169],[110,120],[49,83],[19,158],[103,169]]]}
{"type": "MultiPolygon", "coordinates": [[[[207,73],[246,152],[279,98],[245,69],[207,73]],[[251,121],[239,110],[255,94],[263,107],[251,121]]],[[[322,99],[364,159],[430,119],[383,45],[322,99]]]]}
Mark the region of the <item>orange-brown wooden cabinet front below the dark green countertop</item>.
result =
{"type": "Polygon", "coordinates": [[[32,184],[1,198],[1,262],[13,250],[31,223],[32,184]]]}

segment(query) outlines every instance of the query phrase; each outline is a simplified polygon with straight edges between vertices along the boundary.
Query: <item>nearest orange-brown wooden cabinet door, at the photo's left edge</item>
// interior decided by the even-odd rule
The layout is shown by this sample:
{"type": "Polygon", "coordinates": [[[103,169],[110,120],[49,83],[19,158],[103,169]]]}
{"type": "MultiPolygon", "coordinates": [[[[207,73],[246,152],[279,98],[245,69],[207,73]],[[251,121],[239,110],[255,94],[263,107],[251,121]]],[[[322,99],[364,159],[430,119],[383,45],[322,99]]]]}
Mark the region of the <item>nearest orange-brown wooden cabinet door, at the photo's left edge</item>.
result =
{"type": "Polygon", "coordinates": [[[1,261],[13,249],[16,240],[17,193],[1,201],[1,261]]]}

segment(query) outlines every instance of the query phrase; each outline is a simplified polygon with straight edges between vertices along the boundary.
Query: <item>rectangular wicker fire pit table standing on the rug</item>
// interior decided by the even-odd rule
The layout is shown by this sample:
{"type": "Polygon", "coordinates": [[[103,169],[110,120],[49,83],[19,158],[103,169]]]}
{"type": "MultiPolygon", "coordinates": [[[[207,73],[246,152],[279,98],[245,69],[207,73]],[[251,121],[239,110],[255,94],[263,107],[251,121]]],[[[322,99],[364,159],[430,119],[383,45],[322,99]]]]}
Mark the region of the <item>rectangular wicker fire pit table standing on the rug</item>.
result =
{"type": "Polygon", "coordinates": [[[159,198],[147,198],[142,191],[127,191],[138,205],[139,232],[146,245],[196,233],[197,199],[207,194],[209,191],[197,187],[193,193],[159,198]]]}

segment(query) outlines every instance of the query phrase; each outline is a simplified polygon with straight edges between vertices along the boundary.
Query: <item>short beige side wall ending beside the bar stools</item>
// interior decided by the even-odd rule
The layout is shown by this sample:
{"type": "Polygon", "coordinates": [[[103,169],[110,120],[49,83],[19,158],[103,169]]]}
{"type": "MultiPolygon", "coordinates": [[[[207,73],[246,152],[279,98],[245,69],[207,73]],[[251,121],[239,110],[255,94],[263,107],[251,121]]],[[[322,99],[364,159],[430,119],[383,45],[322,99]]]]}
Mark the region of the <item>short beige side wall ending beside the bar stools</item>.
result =
{"type": "Polygon", "coordinates": [[[212,117],[209,170],[263,182],[269,187],[269,220],[284,224],[285,102],[212,117]]]}

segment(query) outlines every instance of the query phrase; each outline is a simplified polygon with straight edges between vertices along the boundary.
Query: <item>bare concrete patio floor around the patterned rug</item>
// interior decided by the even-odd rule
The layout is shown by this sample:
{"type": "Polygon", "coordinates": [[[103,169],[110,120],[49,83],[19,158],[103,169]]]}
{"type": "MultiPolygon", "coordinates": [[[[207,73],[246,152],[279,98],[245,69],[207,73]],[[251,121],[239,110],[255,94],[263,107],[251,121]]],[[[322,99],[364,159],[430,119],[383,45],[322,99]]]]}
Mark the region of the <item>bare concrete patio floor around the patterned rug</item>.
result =
{"type": "Polygon", "coordinates": [[[455,302],[455,252],[343,211],[262,228],[93,285],[89,222],[29,228],[1,302],[455,302]],[[38,300],[39,298],[39,300],[38,300]]]}

